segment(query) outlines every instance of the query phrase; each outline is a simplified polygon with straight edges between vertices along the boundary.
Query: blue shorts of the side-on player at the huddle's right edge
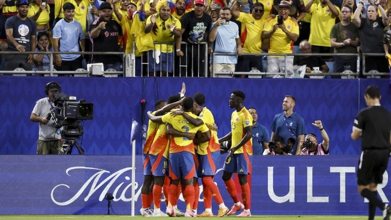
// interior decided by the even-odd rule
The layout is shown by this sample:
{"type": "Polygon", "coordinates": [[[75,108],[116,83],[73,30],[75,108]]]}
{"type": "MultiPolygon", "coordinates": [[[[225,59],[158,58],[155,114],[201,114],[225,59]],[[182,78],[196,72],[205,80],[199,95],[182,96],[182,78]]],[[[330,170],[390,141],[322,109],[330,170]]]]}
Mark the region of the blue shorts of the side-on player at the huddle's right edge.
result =
{"type": "Polygon", "coordinates": [[[251,163],[253,157],[247,153],[234,154],[225,159],[223,170],[230,173],[248,175],[251,174],[251,163]]]}

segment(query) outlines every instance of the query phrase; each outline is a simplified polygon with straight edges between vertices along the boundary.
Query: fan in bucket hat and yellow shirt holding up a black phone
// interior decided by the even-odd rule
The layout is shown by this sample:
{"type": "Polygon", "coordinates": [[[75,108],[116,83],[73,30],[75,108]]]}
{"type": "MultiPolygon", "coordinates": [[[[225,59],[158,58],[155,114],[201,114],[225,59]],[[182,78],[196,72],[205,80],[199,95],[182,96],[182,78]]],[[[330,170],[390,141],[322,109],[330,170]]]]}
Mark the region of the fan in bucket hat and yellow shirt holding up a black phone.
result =
{"type": "MultiPolygon", "coordinates": [[[[276,7],[276,6],[275,6],[276,7]]],[[[293,43],[299,38],[299,25],[289,15],[296,13],[296,7],[282,0],[277,6],[282,24],[278,24],[278,18],[269,18],[262,31],[262,38],[269,38],[268,53],[291,54],[293,43]]],[[[293,66],[293,56],[267,56],[267,72],[283,72],[293,66]]]]}

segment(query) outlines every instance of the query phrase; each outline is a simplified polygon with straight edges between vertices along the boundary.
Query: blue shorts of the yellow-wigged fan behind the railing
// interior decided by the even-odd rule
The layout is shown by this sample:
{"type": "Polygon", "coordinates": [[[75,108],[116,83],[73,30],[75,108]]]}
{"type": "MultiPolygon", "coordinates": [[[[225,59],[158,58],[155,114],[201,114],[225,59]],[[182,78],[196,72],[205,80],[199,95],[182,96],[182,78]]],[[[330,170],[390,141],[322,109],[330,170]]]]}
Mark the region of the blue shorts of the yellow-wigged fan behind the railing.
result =
{"type": "Polygon", "coordinates": [[[173,72],[174,65],[174,52],[172,53],[160,53],[159,63],[156,64],[155,59],[152,57],[153,51],[148,51],[148,71],[162,71],[173,72]]]}

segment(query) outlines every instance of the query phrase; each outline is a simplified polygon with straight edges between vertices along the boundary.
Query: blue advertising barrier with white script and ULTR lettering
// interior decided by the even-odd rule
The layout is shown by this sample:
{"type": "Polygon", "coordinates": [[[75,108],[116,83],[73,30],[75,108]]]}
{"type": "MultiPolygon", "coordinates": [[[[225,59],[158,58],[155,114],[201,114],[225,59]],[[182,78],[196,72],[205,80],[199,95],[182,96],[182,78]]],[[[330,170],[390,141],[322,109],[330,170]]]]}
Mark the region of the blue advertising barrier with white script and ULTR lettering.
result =
{"type": "MultiPolygon", "coordinates": [[[[222,167],[226,155],[221,155],[222,167]]],[[[131,198],[131,157],[124,155],[0,155],[0,215],[107,214],[107,193],[114,199],[111,214],[130,215],[141,207],[142,158],[136,156],[135,198],[131,198]]],[[[356,187],[358,155],[254,156],[252,207],[254,215],[367,215],[368,202],[356,187]]],[[[391,168],[378,192],[389,202],[391,168]]],[[[222,171],[217,183],[224,202],[232,206],[222,171]]],[[[202,185],[199,212],[204,210],[202,185]]],[[[178,207],[185,209],[180,196],[178,207]]],[[[162,201],[161,209],[166,205],[162,201]]],[[[213,200],[213,211],[217,213],[213,200]]],[[[380,212],[378,212],[380,215],[380,212]]]]}

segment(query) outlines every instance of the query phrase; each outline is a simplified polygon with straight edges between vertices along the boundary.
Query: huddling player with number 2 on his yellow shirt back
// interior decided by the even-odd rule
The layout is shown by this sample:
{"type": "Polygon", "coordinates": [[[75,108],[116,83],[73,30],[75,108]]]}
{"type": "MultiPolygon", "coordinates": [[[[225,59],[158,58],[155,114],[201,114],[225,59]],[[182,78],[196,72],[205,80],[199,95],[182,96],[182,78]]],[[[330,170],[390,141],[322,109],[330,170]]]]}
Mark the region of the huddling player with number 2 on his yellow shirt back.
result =
{"type": "MultiPolygon", "coordinates": [[[[190,116],[196,118],[197,116],[191,112],[194,101],[191,97],[185,97],[182,103],[182,109],[190,116]]],[[[186,201],[185,217],[196,217],[192,212],[194,202],[194,186],[193,177],[195,176],[194,163],[194,144],[189,139],[189,133],[201,132],[202,137],[199,142],[205,142],[210,139],[210,132],[206,125],[194,126],[190,124],[182,115],[172,116],[166,114],[162,117],[162,121],[171,124],[174,129],[167,130],[167,133],[173,135],[170,143],[170,177],[171,183],[169,187],[169,204],[170,216],[175,216],[172,204],[176,199],[176,188],[179,182],[182,185],[183,197],[186,201]],[[172,130],[181,131],[183,135],[177,136],[172,130]]]]}

